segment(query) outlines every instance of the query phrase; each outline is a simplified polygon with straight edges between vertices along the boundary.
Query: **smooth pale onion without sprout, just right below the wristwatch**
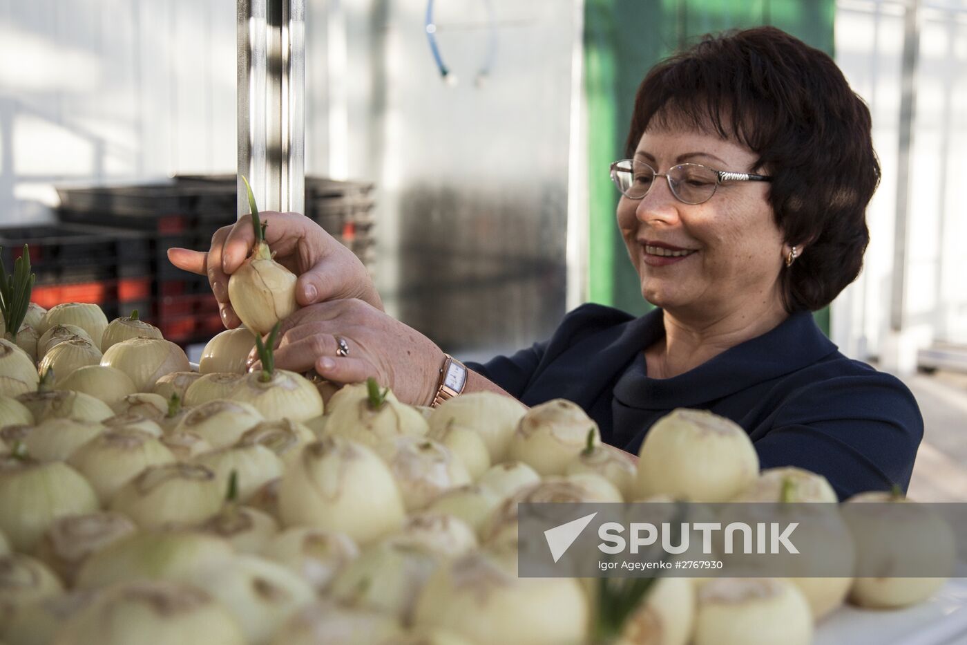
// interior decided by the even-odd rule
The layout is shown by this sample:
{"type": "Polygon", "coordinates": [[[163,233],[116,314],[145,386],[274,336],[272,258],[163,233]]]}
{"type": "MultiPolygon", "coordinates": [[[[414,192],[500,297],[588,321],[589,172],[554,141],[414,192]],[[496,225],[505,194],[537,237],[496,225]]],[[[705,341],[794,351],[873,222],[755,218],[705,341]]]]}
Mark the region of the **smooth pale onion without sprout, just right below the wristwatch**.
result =
{"type": "Polygon", "coordinates": [[[508,458],[513,433],[526,412],[523,405],[509,396],[469,392],[444,401],[430,415],[429,427],[435,433],[448,425],[476,431],[490,452],[490,463],[499,464],[508,458]]]}

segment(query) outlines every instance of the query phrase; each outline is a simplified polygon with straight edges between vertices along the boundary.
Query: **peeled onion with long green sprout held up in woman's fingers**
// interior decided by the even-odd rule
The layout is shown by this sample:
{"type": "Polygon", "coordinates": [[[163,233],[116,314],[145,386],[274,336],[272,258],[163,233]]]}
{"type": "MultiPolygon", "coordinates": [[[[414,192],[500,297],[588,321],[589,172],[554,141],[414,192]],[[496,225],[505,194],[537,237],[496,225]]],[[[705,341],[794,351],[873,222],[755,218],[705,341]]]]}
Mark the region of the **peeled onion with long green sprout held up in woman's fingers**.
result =
{"type": "MultiPolygon", "coordinates": [[[[248,187],[248,182],[246,182],[248,187]]],[[[251,225],[255,243],[251,255],[228,279],[228,300],[239,320],[252,331],[265,335],[279,321],[299,308],[296,303],[296,276],[277,261],[265,241],[265,227],[249,189],[251,225]]],[[[302,420],[302,419],[300,419],[302,420]]]]}

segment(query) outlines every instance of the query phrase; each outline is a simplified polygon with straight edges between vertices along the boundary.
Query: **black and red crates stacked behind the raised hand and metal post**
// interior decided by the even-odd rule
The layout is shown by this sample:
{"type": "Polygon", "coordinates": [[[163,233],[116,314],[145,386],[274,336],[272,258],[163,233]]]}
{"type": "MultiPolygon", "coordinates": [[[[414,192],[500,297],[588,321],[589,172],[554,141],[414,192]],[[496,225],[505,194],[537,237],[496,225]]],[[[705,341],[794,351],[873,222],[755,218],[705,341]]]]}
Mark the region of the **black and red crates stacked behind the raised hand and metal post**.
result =
{"type": "MultiPolygon", "coordinates": [[[[306,214],[373,269],[371,184],[306,179],[306,214]]],[[[151,307],[142,318],[184,347],[222,330],[208,278],[175,268],[167,250],[207,251],[212,234],[236,220],[235,177],[182,176],[163,184],[60,189],[63,226],[110,226],[141,235],[146,245],[151,307]],[[147,313],[150,311],[150,315],[147,313]]]]}

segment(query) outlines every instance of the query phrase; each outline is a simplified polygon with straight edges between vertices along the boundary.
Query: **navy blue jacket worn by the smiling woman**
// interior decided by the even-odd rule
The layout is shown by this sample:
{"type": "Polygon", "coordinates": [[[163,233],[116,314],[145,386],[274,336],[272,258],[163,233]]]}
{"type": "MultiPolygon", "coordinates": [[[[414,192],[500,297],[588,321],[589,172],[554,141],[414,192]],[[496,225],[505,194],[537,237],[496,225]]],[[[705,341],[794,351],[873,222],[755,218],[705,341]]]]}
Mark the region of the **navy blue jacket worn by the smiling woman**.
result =
{"type": "Polygon", "coordinates": [[[629,452],[661,416],[697,408],[745,428],[762,468],[826,476],[840,499],[894,483],[906,490],[923,438],[917,401],[893,376],[839,353],[808,312],[685,374],[649,379],[643,351],[663,334],[659,309],[634,319],[588,304],[549,341],[468,367],[528,406],[573,401],[603,441],[629,452]]]}

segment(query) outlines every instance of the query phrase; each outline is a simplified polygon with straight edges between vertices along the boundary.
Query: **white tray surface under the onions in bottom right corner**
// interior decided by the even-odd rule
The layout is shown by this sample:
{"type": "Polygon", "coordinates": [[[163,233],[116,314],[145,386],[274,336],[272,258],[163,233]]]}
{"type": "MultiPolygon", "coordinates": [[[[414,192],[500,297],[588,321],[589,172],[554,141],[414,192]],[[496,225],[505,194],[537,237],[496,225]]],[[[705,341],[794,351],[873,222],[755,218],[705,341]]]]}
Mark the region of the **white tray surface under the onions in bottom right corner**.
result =
{"type": "Polygon", "coordinates": [[[813,645],[963,645],[967,577],[952,578],[933,598],[906,609],[841,607],[816,628],[813,645]]]}

